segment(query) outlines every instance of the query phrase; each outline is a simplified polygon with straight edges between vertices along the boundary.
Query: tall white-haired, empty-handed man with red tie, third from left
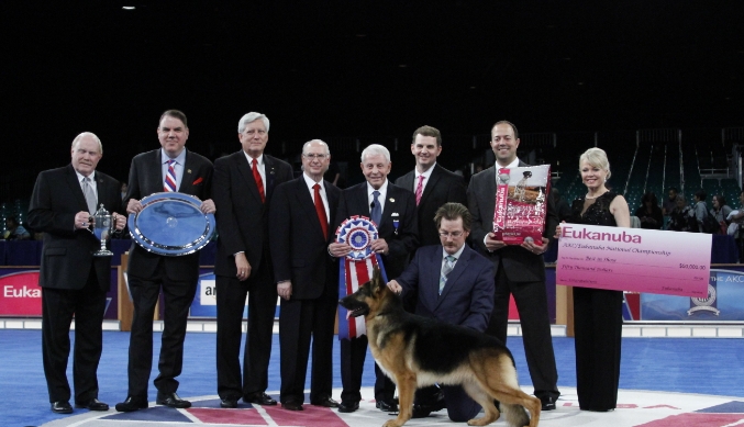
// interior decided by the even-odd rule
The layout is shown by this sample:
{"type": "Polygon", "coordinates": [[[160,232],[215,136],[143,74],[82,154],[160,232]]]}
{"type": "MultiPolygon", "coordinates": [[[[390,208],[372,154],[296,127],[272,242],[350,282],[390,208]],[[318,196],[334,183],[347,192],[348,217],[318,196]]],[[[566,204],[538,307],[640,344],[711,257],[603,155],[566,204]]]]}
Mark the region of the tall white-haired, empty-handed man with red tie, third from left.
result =
{"type": "Polygon", "coordinates": [[[277,186],[292,179],[292,167],[264,154],[269,121],[252,112],[237,122],[242,149],[214,162],[212,194],[220,231],[216,276],[216,391],[222,407],[237,401],[276,405],[266,394],[277,291],[268,246],[269,202],[277,186]],[[243,311],[248,330],[241,375],[243,311]]]}

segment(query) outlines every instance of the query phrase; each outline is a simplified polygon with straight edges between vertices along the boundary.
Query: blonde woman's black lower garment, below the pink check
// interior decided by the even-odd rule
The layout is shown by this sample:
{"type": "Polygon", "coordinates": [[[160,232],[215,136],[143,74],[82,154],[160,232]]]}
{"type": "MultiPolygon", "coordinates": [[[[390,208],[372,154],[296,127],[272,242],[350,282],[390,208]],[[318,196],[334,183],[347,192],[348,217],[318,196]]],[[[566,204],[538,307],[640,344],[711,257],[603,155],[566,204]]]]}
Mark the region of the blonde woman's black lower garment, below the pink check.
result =
{"type": "Polygon", "coordinates": [[[614,409],[620,383],[622,291],[574,288],[576,392],[579,407],[614,409]]]}

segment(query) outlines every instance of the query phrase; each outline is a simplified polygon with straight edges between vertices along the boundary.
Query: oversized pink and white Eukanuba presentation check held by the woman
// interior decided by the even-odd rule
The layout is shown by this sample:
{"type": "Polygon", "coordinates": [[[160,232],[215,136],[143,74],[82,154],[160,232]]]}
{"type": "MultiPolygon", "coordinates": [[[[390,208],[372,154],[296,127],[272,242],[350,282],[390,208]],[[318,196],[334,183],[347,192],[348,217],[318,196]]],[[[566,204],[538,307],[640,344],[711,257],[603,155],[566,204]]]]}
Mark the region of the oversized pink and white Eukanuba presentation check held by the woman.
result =
{"type": "Polygon", "coordinates": [[[708,296],[712,236],[560,224],[556,283],[708,296]]]}

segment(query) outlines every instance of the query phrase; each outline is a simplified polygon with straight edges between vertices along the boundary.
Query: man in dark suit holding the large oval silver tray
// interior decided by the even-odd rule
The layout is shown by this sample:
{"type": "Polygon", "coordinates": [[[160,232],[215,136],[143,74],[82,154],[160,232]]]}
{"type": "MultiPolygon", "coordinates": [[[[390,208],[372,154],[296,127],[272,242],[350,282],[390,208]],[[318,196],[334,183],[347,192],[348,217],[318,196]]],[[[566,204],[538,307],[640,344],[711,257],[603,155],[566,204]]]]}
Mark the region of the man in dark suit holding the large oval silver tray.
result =
{"type": "MultiPolygon", "coordinates": [[[[209,199],[212,162],[186,149],[189,128],[186,115],[168,110],[160,116],[157,136],[160,149],[143,153],[132,159],[129,188],[124,200],[126,212],[142,211],[140,200],[153,193],[180,192],[200,199],[204,214],[214,213],[209,199]]],[[[176,394],[184,361],[184,339],[189,307],[199,282],[199,252],[180,257],[149,252],[132,243],[127,278],[134,314],[129,353],[129,392],[119,412],[147,407],[147,381],[153,366],[153,315],[160,290],[165,300],[164,328],[155,379],[157,404],[187,408],[191,403],[176,394]]]]}

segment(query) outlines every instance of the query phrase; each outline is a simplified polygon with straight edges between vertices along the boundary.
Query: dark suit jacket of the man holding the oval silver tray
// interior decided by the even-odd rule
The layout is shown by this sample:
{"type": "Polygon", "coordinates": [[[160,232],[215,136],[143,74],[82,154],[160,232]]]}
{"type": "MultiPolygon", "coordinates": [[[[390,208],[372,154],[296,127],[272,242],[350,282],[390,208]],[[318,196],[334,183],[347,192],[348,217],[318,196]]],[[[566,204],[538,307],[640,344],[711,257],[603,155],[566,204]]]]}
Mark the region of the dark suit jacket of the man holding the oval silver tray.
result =
{"type": "MultiPolygon", "coordinates": [[[[130,181],[124,203],[130,199],[141,200],[153,193],[163,192],[163,158],[160,148],[143,153],[132,159],[130,181]]],[[[210,199],[212,187],[212,162],[193,151],[186,151],[184,177],[179,193],[191,194],[199,200],[210,199]]],[[[154,274],[160,259],[165,262],[166,274],[174,280],[197,280],[199,277],[199,252],[181,257],[167,257],[148,252],[132,241],[127,271],[141,278],[154,274]]]]}

